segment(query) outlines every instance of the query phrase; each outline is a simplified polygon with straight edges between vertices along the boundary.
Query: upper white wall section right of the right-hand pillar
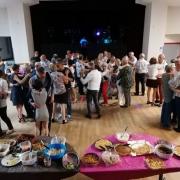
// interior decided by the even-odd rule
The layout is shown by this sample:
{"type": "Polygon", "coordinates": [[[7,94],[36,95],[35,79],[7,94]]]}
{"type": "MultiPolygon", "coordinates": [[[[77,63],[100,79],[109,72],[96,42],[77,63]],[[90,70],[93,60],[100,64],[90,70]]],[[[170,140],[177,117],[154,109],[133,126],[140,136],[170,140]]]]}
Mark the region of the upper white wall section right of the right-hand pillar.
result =
{"type": "Polygon", "coordinates": [[[166,34],[180,34],[180,7],[168,7],[166,34]]]}

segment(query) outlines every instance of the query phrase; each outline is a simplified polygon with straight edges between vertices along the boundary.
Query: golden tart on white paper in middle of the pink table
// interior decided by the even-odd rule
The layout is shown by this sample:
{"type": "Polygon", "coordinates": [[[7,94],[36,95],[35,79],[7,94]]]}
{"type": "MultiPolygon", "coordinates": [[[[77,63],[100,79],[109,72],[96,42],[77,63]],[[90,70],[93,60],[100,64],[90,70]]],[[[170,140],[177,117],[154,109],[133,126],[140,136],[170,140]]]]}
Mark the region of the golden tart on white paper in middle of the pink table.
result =
{"type": "Polygon", "coordinates": [[[141,156],[146,154],[152,154],[154,152],[154,147],[148,141],[135,141],[129,145],[132,149],[132,156],[141,156]]]}

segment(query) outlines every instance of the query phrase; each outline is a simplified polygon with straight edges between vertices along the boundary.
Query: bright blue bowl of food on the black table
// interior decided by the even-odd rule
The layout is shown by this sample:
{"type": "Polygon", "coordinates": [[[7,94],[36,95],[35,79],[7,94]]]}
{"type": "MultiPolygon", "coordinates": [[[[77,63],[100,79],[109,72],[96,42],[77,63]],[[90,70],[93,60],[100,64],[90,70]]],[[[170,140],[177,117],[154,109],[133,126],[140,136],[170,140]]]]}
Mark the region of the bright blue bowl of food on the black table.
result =
{"type": "Polygon", "coordinates": [[[58,160],[62,158],[66,152],[66,146],[64,144],[49,144],[44,150],[45,156],[50,156],[52,160],[58,160]]]}

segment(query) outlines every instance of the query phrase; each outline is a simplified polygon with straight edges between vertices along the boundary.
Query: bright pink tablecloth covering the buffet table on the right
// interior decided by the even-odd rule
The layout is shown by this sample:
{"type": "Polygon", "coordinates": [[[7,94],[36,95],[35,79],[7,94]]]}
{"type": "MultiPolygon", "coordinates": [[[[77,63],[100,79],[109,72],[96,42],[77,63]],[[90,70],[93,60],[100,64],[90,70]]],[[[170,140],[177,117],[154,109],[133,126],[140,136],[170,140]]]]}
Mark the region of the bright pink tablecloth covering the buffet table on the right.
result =
{"type": "MultiPolygon", "coordinates": [[[[106,139],[110,140],[114,144],[118,143],[115,136],[108,136],[106,139]]],[[[131,135],[130,140],[146,140],[154,145],[158,138],[147,134],[133,134],[131,135]]],[[[89,152],[93,152],[98,155],[101,155],[102,153],[101,151],[98,151],[96,148],[94,148],[93,145],[91,145],[86,150],[86,153],[89,152]]],[[[180,158],[175,156],[169,160],[166,160],[166,168],[160,170],[151,170],[147,168],[146,164],[144,163],[144,158],[144,156],[121,157],[120,163],[109,167],[106,167],[104,164],[101,164],[97,167],[84,167],[82,165],[80,167],[80,172],[93,179],[127,180],[180,171],[180,158]]]]}

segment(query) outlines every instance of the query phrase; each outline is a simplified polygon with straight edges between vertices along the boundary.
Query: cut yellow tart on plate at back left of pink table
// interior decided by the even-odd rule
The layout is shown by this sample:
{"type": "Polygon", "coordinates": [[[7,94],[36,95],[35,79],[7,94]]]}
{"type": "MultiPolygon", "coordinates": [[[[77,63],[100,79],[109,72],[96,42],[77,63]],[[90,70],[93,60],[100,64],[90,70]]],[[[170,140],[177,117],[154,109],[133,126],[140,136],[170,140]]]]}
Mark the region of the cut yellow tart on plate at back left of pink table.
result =
{"type": "Polygon", "coordinates": [[[99,139],[95,142],[94,144],[95,148],[101,150],[101,151],[106,151],[109,148],[113,148],[113,144],[111,141],[107,139],[99,139]]]}

